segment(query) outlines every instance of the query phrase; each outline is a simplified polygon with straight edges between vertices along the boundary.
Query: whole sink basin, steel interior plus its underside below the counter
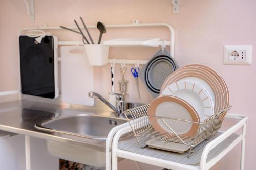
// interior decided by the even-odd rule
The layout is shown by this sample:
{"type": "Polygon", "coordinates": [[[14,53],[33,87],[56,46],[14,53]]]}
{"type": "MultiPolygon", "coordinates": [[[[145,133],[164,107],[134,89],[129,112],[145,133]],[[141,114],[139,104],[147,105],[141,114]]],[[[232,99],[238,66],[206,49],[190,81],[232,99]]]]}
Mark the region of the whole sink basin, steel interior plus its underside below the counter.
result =
{"type": "MultiPolygon", "coordinates": [[[[125,119],[90,114],[78,114],[60,117],[36,124],[39,130],[58,132],[84,138],[106,140],[110,130],[125,123],[125,119]]],[[[105,167],[105,148],[92,144],[84,147],[65,142],[46,140],[48,152],[61,159],[74,161],[96,167],[105,167]]]]}

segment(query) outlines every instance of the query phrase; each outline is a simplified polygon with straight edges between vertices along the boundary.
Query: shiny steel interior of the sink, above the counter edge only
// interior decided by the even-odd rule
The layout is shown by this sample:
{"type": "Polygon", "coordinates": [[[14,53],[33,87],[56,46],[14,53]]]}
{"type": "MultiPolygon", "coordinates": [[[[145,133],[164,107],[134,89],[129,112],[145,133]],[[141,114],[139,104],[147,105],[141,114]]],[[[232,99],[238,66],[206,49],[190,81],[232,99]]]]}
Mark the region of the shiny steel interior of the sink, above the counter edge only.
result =
{"type": "Polygon", "coordinates": [[[106,137],[113,127],[125,122],[126,120],[121,118],[79,114],[49,120],[47,122],[36,124],[35,127],[44,131],[106,140],[106,137]]]}

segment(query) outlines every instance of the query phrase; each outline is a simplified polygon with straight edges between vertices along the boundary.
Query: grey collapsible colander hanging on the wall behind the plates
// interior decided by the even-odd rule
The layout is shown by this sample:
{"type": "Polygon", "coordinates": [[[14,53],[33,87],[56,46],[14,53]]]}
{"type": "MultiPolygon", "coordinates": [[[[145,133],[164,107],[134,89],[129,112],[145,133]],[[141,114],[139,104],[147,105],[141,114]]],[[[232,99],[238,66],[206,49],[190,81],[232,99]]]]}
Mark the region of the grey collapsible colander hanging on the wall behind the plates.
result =
{"type": "Polygon", "coordinates": [[[150,90],[154,98],[159,95],[164,80],[178,68],[176,61],[167,50],[159,50],[140,70],[139,78],[150,90]]]}

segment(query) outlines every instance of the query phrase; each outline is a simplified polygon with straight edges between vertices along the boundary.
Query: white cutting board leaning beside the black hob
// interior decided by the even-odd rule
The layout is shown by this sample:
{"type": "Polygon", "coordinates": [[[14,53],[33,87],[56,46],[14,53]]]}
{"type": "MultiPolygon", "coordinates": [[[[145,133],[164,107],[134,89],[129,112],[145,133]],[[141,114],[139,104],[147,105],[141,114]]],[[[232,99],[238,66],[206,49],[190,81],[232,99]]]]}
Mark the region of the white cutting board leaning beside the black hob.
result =
{"type": "Polygon", "coordinates": [[[93,106],[93,66],[89,65],[84,47],[63,46],[61,55],[62,101],[69,104],[93,106]]]}

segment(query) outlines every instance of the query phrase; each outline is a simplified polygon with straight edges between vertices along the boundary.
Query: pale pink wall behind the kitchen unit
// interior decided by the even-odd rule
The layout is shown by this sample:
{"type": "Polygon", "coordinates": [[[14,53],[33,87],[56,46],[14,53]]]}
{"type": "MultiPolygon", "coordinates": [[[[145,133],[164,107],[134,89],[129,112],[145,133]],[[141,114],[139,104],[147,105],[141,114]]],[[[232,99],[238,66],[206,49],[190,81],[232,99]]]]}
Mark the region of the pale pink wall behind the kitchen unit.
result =
{"type": "MultiPolygon", "coordinates": [[[[180,13],[172,14],[170,0],[35,0],[36,18],[31,23],[26,15],[22,0],[0,1],[0,91],[18,88],[18,39],[17,32],[23,27],[37,27],[42,23],[48,26],[74,26],[73,19],[83,16],[88,25],[97,21],[105,24],[131,23],[139,19],[142,23],[165,22],[175,28],[175,58],[180,66],[201,63],[214,68],[226,80],[230,90],[230,104],[233,113],[249,117],[246,140],[245,169],[252,169],[256,160],[255,106],[256,65],[252,59],[250,66],[223,65],[224,45],[253,45],[256,49],[256,1],[247,0],[180,0],[180,13]]],[[[92,31],[97,39],[98,32],[92,31]]],[[[77,35],[58,31],[60,40],[78,39],[77,35]],[[61,35],[61,36],[60,36],[61,35]]],[[[125,37],[161,37],[167,39],[167,29],[149,30],[109,30],[104,39],[125,37]]],[[[150,59],[156,53],[155,48],[111,48],[111,58],[150,59]]],[[[253,58],[255,58],[253,53],[253,58]]],[[[95,88],[108,96],[110,91],[110,70],[108,66],[95,68],[95,88]],[[103,86],[102,86],[103,84],[103,86]]],[[[116,69],[117,70],[117,69],[116,69]]],[[[116,71],[116,80],[120,79],[116,71]]],[[[129,89],[136,88],[131,75],[129,89]]],[[[117,85],[116,85],[117,86],[117,85]]],[[[140,82],[142,102],[149,102],[150,95],[140,82]]],[[[130,90],[129,100],[138,102],[135,93],[130,90]]],[[[2,101],[4,99],[1,99],[2,101]]],[[[239,147],[238,147],[239,149],[239,147]]],[[[239,150],[232,151],[213,169],[239,169],[239,150]],[[236,161],[234,161],[236,160],[236,161]],[[230,163],[227,163],[230,162],[230,163]],[[231,163],[232,162],[232,163],[231,163]]]]}

